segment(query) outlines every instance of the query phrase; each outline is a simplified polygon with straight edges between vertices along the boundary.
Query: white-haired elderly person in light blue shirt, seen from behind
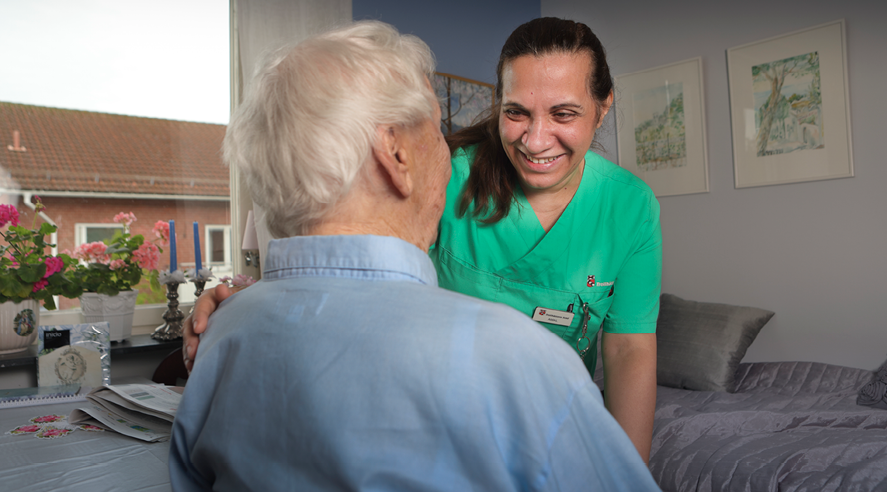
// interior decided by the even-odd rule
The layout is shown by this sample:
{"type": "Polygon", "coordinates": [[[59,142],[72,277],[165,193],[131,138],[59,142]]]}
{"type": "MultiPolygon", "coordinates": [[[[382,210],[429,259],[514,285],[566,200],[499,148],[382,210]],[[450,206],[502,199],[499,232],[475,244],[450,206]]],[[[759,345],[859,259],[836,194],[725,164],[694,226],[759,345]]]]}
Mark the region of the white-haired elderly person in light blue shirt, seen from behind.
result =
{"type": "Polygon", "coordinates": [[[418,38],[363,22],[258,73],[225,159],[280,239],[203,336],[175,490],[658,490],[567,344],[437,287],[432,70],[418,38]]]}

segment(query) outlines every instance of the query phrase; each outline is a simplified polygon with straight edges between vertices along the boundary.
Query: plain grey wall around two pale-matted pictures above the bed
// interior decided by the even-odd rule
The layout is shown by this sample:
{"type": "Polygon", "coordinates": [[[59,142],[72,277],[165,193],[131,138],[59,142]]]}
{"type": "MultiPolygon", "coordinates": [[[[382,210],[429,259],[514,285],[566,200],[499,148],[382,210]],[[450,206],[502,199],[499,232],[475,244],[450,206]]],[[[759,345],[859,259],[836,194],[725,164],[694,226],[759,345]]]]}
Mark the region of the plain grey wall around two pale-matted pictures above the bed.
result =
{"type": "MultiPolygon", "coordinates": [[[[703,58],[710,192],[660,198],[663,291],[776,312],[749,349],[748,362],[806,360],[865,369],[883,362],[887,2],[542,0],[542,15],[588,24],[606,47],[614,75],[703,58]],[[735,189],[726,50],[841,18],[856,176],[735,189]]],[[[608,120],[602,142],[615,161],[614,119],[608,120]]]]}

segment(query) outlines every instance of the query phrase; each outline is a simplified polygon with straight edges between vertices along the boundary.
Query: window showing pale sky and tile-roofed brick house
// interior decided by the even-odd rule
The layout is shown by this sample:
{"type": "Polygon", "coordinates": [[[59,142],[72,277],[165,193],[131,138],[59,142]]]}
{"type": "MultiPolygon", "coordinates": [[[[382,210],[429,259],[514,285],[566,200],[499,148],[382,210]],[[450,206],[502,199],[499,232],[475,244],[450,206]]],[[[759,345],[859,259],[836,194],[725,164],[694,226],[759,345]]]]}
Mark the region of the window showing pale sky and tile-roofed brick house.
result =
{"type": "MultiPolygon", "coordinates": [[[[230,171],[219,152],[231,104],[230,8],[228,0],[4,4],[0,45],[16,54],[0,64],[0,201],[22,210],[23,197],[39,194],[59,227],[59,251],[110,237],[120,212],[136,215],[132,232],[146,240],[157,221],[176,220],[182,269],[195,263],[192,222],[228,227],[220,267],[230,270],[230,171]]],[[[165,250],[160,268],[168,265],[165,250]]],[[[139,289],[139,302],[162,313],[166,296],[139,289]]],[[[192,286],[179,293],[193,300],[192,286]]]]}

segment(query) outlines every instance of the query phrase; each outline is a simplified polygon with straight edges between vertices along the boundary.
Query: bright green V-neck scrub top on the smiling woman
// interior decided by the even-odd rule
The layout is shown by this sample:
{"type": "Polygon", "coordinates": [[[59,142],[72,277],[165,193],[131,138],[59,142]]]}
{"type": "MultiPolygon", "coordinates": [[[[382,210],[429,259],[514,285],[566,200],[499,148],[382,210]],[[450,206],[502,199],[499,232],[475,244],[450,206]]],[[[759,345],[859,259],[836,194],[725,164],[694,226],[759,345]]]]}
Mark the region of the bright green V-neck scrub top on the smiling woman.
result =
{"type": "MultiPolygon", "coordinates": [[[[662,277],[659,202],[643,181],[589,151],[582,181],[548,231],[520,187],[507,217],[483,224],[456,216],[474,148],[453,154],[453,174],[437,242],[430,251],[441,287],[505,303],[533,316],[536,308],[572,311],[569,326],[540,322],[574,349],[588,303],[587,336],[655,333],[662,277]]],[[[507,350],[508,340],[502,340],[507,350]]],[[[585,365],[594,375],[596,350],[585,365]]]]}

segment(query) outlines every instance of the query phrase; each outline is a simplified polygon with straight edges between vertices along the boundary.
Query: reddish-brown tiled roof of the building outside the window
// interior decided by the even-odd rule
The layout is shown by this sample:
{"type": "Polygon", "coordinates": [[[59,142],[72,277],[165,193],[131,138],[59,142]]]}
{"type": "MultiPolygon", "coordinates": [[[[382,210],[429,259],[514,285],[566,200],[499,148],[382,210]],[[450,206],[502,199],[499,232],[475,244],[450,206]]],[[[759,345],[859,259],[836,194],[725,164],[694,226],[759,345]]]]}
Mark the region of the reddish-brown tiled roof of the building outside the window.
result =
{"type": "Polygon", "coordinates": [[[0,102],[0,188],[228,197],[224,136],[225,125],[0,102]]]}

